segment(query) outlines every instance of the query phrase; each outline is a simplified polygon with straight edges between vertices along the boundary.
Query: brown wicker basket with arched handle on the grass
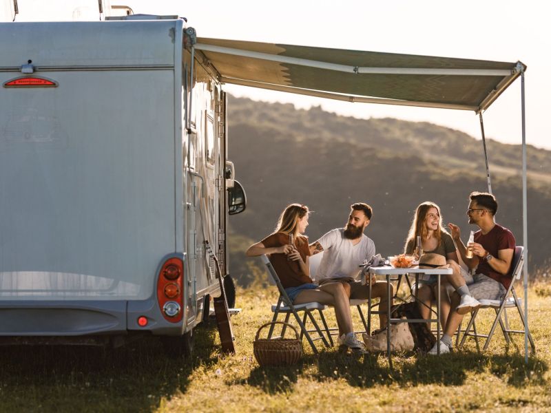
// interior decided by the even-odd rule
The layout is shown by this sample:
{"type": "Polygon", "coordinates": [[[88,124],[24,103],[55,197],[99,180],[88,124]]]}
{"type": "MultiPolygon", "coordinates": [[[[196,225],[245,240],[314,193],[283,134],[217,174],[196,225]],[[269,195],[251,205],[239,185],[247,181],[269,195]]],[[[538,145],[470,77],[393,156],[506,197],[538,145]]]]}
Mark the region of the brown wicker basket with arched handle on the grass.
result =
{"type": "Polygon", "coordinates": [[[291,366],[297,363],[302,355],[302,342],[296,328],[289,323],[273,321],[258,328],[253,342],[254,357],[260,366],[291,366]],[[260,330],[271,324],[283,324],[295,332],[295,339],[259,339],[260,330]]]}

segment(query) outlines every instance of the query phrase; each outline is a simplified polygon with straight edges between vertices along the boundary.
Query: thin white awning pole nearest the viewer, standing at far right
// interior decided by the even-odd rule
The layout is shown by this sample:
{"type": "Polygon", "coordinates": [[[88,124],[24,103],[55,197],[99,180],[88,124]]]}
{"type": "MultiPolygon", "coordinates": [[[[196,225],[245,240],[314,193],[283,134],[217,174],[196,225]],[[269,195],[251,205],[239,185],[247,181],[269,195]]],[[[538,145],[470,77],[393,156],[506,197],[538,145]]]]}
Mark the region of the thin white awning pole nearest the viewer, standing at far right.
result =
{"type": "Polygon", "coordinates": [[[524,70],[521,72],[522,105],[522,232],[524,243],[524,361],[528,364],[528,188],[526,182],[526,114],[524,103],[524,70]]]}

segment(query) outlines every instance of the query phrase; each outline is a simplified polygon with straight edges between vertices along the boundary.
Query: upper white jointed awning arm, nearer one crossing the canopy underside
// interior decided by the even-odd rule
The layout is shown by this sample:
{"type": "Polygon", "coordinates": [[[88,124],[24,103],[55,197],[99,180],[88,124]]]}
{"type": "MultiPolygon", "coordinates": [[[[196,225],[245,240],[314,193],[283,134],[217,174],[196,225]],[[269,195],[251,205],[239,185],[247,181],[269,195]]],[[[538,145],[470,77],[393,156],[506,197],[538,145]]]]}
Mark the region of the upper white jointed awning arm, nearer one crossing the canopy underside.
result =
{"type": "Polygon", "coordinates": [[[318,69],[335,70],[337,72],[353,74],[426,74],[439,76],[510,76],[511,74],[514,74],[514,70],[509,69],[435,69],[431,67],[349,66],[340,65],[337,63],[313,61],[310,59],[300,59],[298,57],[280,56],[278,54],[253,52],[251,50],[236,49],[234,47],[208,45],[206,43],[197,43],[195,48],[197,50],[205,50],[207,52],[231,54],[232,56],[249,57],[251,59],[261,59],[278,63],[289,63],[291,65],[317,67],[318,69]]]}

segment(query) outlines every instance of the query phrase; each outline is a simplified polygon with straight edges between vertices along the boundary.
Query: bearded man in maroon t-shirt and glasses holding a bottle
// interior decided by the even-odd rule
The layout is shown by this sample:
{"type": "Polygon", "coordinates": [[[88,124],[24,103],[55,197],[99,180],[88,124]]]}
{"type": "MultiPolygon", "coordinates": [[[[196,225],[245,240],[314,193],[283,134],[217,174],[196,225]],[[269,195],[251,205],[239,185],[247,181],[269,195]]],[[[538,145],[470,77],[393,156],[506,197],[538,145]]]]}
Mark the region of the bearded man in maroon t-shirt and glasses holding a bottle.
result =
{"type": "MultiPolygon", "coordinates": [[[[461,241],[459,226],[448,224],[461,260],[470,270],[476,268],[475,275],[472,277],[466,275],[466,283],[470,294],[476,300],[501,299],[511,283],[510,267],[514,255],[514,236],[511,231],[495,222],[497,201],[494,195],[473,192],[469,195],[469,200],[467,209],[469,224],[475,224],[480,228],[475,233],[475,241],[465,246],[461,241]],[[471,258],[466,256],[467,251],[472,251],[471,258]]],[[[472,306],[467,308],[467,311],[464,308],[458,308],[461,300],[455,292],[450,295],[450,298],[451,311],[444,326],[444,336],[440,340],[440,353],[450,352],[451,337],[459,327],[463,315],[477,308],[472,306]]],[[[436,346],[437,344],[429,354],[437,354],[436,346]]]]}

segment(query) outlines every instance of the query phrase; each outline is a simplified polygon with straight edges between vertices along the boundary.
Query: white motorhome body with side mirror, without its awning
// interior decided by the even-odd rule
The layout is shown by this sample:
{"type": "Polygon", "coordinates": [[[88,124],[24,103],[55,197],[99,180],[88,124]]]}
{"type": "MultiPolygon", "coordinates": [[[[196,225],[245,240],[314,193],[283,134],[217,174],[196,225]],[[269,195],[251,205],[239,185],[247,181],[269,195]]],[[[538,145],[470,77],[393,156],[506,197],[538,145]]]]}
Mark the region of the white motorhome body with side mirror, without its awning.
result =
{"type": "Polygon", "coordinates": [[[218,263],[232,286],[245,192],[193,41],[178,17],[0,23],[0,343],[187,352],[218,263]]]}

